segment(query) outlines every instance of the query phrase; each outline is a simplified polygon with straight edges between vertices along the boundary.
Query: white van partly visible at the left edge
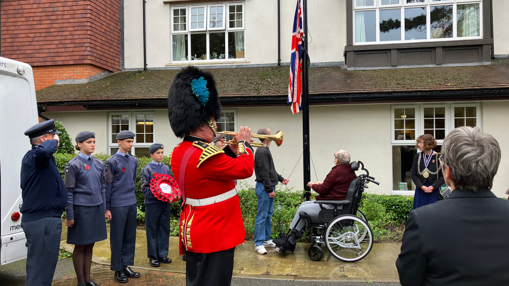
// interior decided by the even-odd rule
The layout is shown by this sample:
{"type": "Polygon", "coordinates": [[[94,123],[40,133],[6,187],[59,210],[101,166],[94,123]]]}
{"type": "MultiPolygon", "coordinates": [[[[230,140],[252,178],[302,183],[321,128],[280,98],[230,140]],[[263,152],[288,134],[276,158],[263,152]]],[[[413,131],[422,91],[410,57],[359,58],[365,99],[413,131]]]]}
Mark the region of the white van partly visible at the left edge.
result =
{"type": "Polygon", "coordinates": [[[0,265],[26,258],[21,227],[21,159],[32,147],[23,133],[37,124],[32,67],[0,57],[0,265]]]}

